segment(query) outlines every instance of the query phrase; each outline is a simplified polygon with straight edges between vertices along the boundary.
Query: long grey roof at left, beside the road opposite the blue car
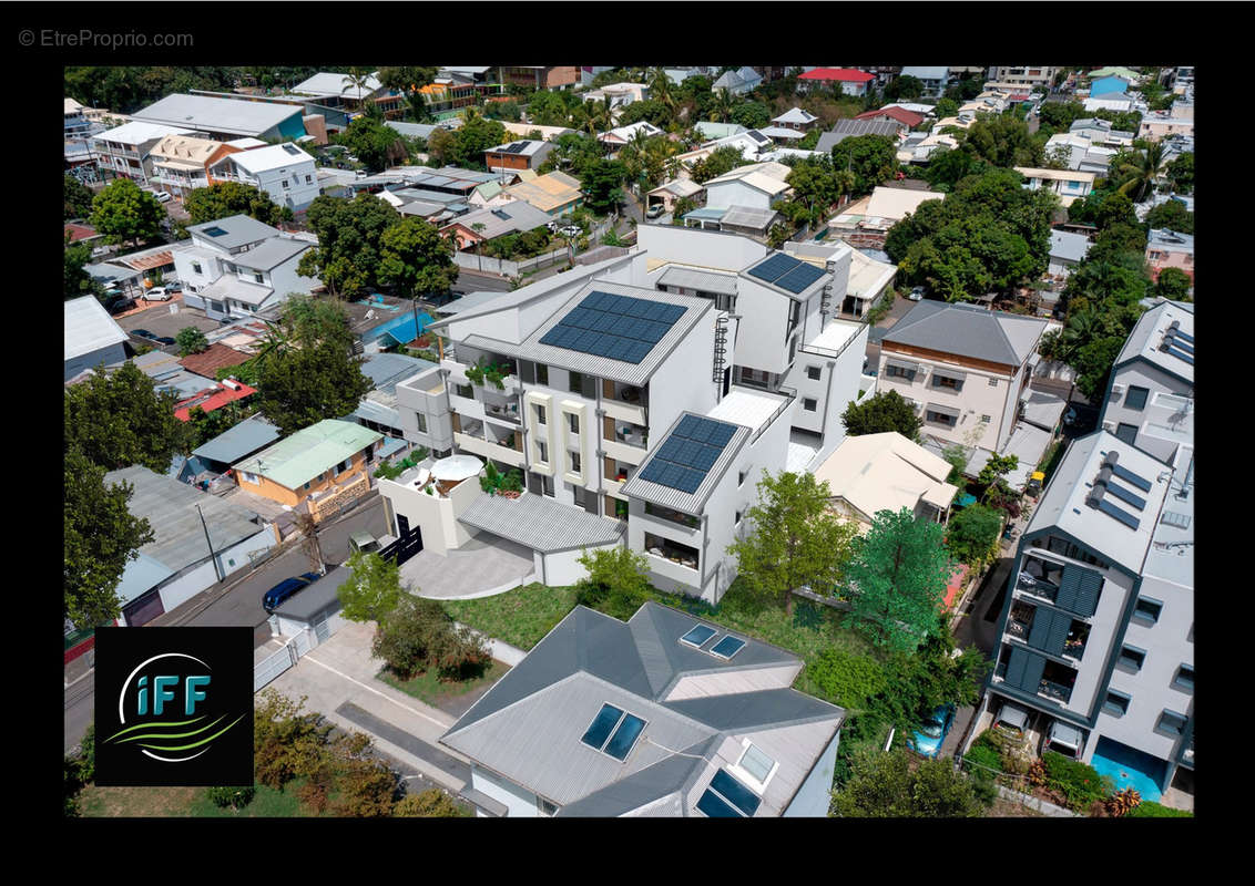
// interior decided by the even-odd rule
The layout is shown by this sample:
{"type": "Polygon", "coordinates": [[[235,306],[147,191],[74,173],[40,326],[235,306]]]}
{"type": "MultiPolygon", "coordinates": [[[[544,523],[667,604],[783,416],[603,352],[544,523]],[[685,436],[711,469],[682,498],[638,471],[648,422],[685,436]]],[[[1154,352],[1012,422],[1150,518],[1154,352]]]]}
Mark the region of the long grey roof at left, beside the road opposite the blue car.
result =
{"type": "Polygon", "coordinates": [[[127,510],[134,516],[146,518],[153,529],[153,540],[142,546],[139,553],[173,571],[210,559],[197,505],[205,515],[215,553],[257,533],[269,531],[256,521],[257,515],[246,508],[154,474],[147,467],[132,465],[104,475],[105,484],[123,480],[134,486],[127,510]]]}

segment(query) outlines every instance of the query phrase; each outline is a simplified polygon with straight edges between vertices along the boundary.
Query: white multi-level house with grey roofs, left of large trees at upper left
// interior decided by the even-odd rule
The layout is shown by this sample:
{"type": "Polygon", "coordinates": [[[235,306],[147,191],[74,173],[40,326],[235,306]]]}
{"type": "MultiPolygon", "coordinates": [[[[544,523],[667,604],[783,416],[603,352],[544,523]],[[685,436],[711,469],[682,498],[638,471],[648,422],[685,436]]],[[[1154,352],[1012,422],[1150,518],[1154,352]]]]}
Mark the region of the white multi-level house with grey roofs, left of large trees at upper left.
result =
{"type": "Polygon", "coordinates": [[[247,317],[274,307],[290,293],[319,286],[296,271],[318,246],[309,234],[284,234],[248,216],[230,216],[187,229],[191,242],[173,247],[183,302],[211,320],[247,317]]]}

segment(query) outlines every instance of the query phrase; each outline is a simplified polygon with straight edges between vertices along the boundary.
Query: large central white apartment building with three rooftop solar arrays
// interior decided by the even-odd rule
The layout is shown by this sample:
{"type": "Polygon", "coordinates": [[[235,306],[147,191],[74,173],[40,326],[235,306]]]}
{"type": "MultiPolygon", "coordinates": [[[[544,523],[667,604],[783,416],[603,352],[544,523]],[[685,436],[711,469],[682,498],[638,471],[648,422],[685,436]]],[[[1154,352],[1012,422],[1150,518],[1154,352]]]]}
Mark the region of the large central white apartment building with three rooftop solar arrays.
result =
{"type": "MultiPolygon", "coordinates": [[[[523,498],[551,503],[528,504],[531,520],[560,525],[584,511],[602,524],[582,524],[589,546],[606,544],[614,521],[658,586],[714,603],[735,578],[727,546],[762,471],[806,470],[843,439],[867,330],[832,320],[848,247],[806,244],[816,254],[793,257],[727,233],[641,226],[639,237],[634,253],[433,325],[452,352],[397,386],[398,407],[405,436],[435,455],[522,471],[523,498]],[[493,367],[502,377],[478,376],[493,367]]],[[[424,539],[463,544],[464,529],[430,521],[435,505],[410,480],[380,482],[394,515],[422,525],[424,539]]],[[[548,544],[511,519],[525,513],[515,503],[454,493],[448,508],[462,526],[548,544]]],[[[563,543],[579,540],[576,529],[563,543]]],[[[558,583],[552,571],[579,576],[574,555],[542,553],[546,583],[558,583]]]]}

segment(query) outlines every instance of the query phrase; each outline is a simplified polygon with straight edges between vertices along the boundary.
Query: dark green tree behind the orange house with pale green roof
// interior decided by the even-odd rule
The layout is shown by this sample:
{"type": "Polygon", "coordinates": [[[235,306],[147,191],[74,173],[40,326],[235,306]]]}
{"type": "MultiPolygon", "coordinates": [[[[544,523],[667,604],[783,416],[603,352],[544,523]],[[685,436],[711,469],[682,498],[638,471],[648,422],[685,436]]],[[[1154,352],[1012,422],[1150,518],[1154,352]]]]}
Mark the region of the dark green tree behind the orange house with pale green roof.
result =
{"type": "Polygon", "coordinates": [[[361,358],[338,342],[290,350],[259,372],[257,409],[287,436],[324,419],[340,419],[374,388],[361,358]]]}

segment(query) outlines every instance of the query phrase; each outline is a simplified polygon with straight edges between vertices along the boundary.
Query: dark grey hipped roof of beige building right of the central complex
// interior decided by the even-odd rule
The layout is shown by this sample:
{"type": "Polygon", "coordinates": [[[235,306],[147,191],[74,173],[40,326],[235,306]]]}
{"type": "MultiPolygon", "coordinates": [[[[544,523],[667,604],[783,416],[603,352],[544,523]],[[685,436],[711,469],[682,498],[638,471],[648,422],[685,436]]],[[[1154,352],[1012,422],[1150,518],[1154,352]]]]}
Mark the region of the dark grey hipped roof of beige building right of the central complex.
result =
{"type": "Polygon", "coordinates": [[[894,323],[881,341],[1020,366],[1033,353],[1045,326],[1044,320],[971,305],[922,301],[894,323]]]}

